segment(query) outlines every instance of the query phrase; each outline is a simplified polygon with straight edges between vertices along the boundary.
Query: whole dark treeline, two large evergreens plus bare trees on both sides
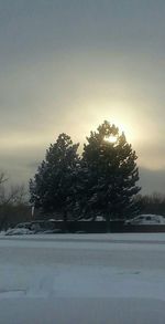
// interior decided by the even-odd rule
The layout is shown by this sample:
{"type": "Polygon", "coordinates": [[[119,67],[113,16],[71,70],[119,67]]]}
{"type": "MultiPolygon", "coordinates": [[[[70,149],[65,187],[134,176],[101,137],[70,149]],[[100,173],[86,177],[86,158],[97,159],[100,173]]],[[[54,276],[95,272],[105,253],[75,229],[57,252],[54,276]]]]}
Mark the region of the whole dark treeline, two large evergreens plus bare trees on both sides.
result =
{"type": "Polygon", "coordinates": [[[0,230],[35,218],[80,220],[101,216],[124,220],[140,213],[165,216],[165,196],[140,195],[136,154],[119,128],[105,122],[91,132],[78,154],[66,134],[51,144],[30,180],[30,201],[23,186],[10,187],[0,174],[0,230]],[[7,186],[8,185],[8,186],[7,186]]]}

